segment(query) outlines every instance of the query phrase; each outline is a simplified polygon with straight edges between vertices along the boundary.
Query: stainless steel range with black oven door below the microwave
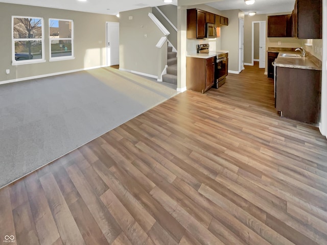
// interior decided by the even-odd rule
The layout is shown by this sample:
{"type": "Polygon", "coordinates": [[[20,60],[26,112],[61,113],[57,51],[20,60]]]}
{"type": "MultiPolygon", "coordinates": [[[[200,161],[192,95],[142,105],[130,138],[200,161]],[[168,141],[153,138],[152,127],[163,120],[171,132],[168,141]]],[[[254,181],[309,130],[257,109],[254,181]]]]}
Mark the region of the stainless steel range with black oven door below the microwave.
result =
{"type": "Polygon", "coordinates": [[[228,53],[223,52],[209,52],[210,45],[208,43],[198,44],[197,53],[200,54],[215,54],[215,84],[213,88],[219,88],[226,81],[228,75],[228,53]]]}

